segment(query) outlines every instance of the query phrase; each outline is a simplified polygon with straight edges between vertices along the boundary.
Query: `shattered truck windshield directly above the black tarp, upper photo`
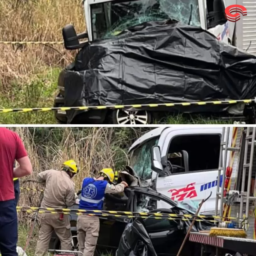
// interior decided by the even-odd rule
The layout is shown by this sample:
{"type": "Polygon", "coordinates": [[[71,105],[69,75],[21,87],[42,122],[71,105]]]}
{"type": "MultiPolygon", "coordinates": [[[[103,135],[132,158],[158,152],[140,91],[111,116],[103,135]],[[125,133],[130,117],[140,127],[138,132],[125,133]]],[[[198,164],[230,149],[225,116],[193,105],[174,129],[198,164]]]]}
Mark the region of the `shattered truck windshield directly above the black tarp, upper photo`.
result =
{"type": "Polygon", "coordinates": [[[190,25],[200,26],[198,0],[116,0],[93,4],[93,40],[113,37],[143,22],[175,19],[188,24],[190,13],[190,25]]]}

